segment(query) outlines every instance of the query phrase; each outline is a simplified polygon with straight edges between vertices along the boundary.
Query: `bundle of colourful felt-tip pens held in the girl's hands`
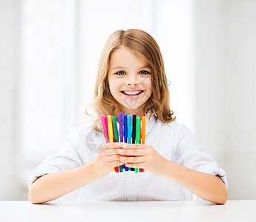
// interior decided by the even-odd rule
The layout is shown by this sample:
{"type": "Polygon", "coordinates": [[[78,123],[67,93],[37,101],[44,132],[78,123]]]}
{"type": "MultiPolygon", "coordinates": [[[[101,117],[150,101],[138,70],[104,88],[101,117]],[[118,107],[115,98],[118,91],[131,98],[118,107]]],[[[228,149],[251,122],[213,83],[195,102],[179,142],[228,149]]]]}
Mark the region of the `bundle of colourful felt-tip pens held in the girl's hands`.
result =
{"type": "MultiPolygon", "coordinates": [[[[145,144],[145,116],[142,116],[140,121],[140,117],[137,117],[137,115],[122,115],[122,112],[119,112],[119,132],[115,115],[100,115],[100,121],[106,143],[125,142],[128,144],[145,144]]],[[[135,173],[145,171],[145,169],[127,167],[125,164],[112,169],[115,172],[123,172],[123,170],[131,170],[135,173]]]]}

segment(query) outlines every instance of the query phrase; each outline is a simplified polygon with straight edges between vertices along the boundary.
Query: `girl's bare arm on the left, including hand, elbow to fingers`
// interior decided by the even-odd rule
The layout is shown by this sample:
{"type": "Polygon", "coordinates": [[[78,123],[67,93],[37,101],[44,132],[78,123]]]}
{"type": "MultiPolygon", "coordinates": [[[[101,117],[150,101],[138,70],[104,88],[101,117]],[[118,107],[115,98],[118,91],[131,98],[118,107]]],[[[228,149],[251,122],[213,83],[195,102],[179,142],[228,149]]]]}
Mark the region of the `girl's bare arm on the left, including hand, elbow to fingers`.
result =
{"type": "Polygon", "coordinates": [[[106,144],[105,152],[96,155],[91,164],[76,167],[65,172],[43,175],[33,182],[28,192],[31,203],[45,203],[66,195],[75,189],[108,175],[115,166],[119,166],[119,155],[115,144],[106,144]]]}

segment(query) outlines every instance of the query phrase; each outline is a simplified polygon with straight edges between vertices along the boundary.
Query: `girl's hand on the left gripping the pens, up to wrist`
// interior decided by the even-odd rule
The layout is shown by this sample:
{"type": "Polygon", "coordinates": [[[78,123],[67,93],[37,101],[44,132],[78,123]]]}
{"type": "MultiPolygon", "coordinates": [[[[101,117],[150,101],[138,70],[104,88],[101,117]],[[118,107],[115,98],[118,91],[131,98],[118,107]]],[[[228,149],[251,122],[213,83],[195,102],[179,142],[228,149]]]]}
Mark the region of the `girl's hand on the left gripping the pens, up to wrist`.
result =
{"type": "Polygon", "coordinates": [[[119,161],[118,153],[123,144],[125,143],[108,143],[100,147],[103,152],[98,153],[92,162],[93,170],[99,178],[108,175],[115,166],[123,164],[119,161]]]}

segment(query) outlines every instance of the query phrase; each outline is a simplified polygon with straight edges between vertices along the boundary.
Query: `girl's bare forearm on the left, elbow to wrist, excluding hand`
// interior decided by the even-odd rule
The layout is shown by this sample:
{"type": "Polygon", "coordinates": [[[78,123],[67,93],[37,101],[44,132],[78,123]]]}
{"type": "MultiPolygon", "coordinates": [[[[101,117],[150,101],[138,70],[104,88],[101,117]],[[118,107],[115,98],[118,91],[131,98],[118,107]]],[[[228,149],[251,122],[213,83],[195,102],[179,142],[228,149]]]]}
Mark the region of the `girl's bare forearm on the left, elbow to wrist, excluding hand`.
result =
{"type": "Polygon", "coordinates": [[[28,192],[28,198],[31,203],[53,201],[98,178],[93,172],[93,164],[80,166],[66,172],[50,173],[33,182],[28,192]]]}

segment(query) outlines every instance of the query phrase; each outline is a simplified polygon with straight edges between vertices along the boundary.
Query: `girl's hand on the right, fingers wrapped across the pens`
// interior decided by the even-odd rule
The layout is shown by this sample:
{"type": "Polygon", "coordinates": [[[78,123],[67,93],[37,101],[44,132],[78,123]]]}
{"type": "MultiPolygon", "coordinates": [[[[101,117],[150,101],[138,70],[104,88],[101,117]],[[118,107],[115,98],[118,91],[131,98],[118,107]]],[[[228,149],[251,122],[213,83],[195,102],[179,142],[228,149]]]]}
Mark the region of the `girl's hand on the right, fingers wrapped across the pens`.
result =
{"type": "MultiPolygon", "coordinates": [[[[120,143],[121,144],[121,143],[120,143]]],[[[119,160],[127,167],[143,168],[154,175],[161,175],[167,161],[153,147],[145,144],[122,144],[118,149],[119,160]]]]}

